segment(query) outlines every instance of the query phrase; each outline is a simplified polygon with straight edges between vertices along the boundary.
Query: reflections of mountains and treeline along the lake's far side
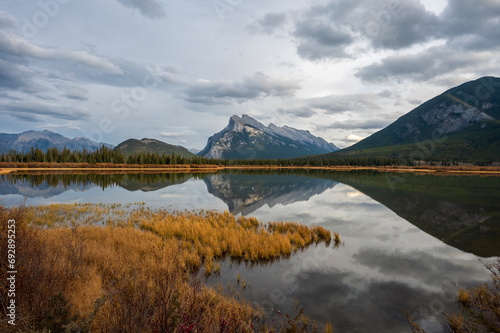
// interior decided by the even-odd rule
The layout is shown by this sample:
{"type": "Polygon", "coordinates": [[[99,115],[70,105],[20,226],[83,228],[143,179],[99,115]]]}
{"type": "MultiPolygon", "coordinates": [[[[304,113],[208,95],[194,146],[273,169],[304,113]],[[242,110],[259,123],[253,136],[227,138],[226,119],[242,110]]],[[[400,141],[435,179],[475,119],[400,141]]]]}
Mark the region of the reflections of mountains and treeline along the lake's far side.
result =
{"type": "MultiPolygon", "coordinates": [[[[208,193],[233,214],[308,201],[338,183],[394,211],[449,245],[482,257],[500,255],[500,178],[385,174],[372,171],[106,173],[3,175],[0,195],[51,198],[72,190],[85,198],[95,187],[154,192],[202,179],[208,193]]],[[[191,207],[190,207],[191,208],[191,207]]],[[[204,207],[200,207],[204,208],[204,207]]]]}

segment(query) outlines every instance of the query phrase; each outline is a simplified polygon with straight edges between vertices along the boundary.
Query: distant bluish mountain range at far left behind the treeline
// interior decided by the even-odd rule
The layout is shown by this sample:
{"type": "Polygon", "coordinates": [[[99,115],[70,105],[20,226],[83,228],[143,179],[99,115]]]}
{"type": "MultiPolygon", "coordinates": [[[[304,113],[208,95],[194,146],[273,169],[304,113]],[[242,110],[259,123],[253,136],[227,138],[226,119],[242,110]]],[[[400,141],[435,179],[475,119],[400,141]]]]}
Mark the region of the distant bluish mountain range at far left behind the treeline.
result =
{"type": "Polygon", "coordinates": [[[87,138],[77,137],[69,139],[61,134],[51,131],[26,131],[20,134],[0,133],[0,153],[7,153],[11,149],[19,152],[29,152],[31,148],[38,148],[44,152],[48,148],[63,149],[64,147],[70,150],[90,150],[94,151],[102,147],[102,145],[112,148],[113,146],[107,143],[95,142],[87,138]]]}

